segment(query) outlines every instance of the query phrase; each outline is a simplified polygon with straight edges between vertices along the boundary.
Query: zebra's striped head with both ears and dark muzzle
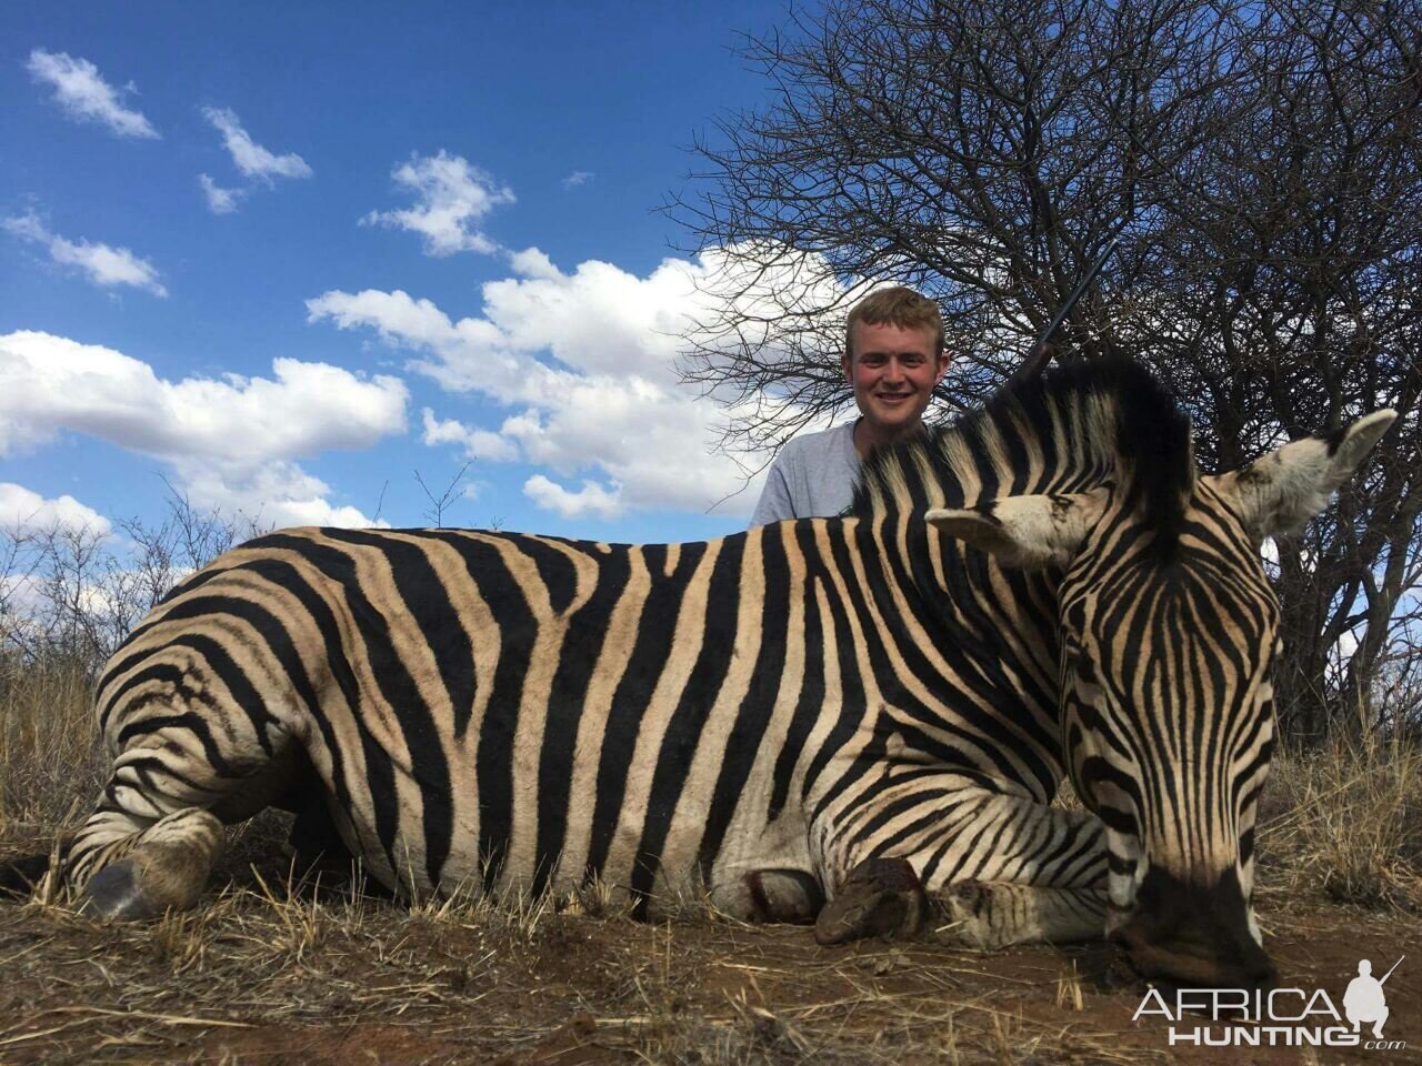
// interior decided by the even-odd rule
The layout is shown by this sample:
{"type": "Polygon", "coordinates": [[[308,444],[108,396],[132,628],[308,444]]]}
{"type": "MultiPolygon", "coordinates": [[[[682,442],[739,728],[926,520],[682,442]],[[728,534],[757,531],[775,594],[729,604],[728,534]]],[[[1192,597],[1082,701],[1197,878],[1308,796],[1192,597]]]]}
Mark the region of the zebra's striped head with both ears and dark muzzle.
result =
{"type": "Polygon", "coordinates": [[[1320,513],[1394,418],[1379,411],[1217,476],[1194,470],[1186,425],[1183,473],[1165,488],[1143,469],[1156,455],[1088,492],[927,515],[1004,566],[1064,571],[1064,760],[1106,827],[1106,930],[1145,975],[1274,978],[1251,904],[1278,650],[1260,546],[1320,513]]]}

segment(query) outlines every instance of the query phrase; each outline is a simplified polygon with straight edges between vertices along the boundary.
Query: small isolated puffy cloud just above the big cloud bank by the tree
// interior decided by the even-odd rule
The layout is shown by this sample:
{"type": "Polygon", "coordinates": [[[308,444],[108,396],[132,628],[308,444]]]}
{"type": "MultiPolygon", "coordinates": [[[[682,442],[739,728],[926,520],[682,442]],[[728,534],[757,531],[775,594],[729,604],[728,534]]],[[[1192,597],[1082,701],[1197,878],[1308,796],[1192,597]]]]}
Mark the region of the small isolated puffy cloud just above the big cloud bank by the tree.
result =
{"type": "Polygon", "coordinates": [[[418,233],[425,239],[425,254],[452,256],[456,252],[498,250],[475,223],[503,203],[513,203],[513,190],[468,159],[449,155],[412,155],[394,169],[391,178],[417,198],[405,210],[373,210],[363,226],[391,226],[418,233]]]}

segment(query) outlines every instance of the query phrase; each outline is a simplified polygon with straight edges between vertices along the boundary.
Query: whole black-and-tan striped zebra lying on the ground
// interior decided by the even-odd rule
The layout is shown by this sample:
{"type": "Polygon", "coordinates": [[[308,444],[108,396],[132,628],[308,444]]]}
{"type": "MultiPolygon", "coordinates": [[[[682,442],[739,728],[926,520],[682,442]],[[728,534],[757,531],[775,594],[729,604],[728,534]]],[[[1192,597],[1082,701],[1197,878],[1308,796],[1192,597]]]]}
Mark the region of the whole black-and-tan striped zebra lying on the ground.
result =
{"type": "Polygon", "coordinates": [[[1112,935],[1148,975],[1267,982],[1260,543],[1394,416],[1210,476],[1167,391],[1095,360],[876,453],[840,517],[259,537],[102,671],[112,775],[61,881],[192,907],[225,824],[316,795],[404,895],[600,878],[644,917],[691,891],[822,944],[1112,935]]]}

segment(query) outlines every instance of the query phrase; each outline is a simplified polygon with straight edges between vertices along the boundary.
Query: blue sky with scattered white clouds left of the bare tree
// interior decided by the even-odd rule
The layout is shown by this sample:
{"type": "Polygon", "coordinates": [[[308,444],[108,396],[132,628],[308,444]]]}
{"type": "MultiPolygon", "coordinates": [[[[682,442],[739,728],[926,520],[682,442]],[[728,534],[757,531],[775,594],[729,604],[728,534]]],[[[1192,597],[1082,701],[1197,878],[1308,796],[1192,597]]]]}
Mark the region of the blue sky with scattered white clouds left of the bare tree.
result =
{"type": "MultiPolygon", "coordinates": [[[[654,210],[784,4],[9,3],[0,520],[744,527],[654,210]]],[[[744,456],[742,456],[744,462],[744,456]]]]}

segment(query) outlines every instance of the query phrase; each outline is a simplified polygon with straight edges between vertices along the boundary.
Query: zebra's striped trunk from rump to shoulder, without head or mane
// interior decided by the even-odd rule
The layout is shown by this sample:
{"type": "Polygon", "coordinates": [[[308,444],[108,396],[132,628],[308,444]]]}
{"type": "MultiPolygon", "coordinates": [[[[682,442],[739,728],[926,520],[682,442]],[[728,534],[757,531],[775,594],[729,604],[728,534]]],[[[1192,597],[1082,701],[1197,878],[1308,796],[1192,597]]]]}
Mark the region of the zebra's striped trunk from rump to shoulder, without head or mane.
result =
{"type": "MultiPolygon", "coordinates": [[[[755,870],[832,883],[906,844],[933,878],[953,858],[947,806],[1055,790],[1055,637],[1047,614],[980,597],[995,574],[963,569],[951,544],[939,564],[961,570],[974,607],[924,598],[883,566],[887,532],[262,537],[171,597],[105,671],[114,787],[199,776],[141,755],[145,735],[218,769],[212,799],[300,749],[347,846],[414,891],[596,876],[648,903],[710,890],[734,907],[755,870]],[[1005,631],[1015,647],[994,645],[1005,631]]],[[[913,536],[927,544],[921,523],[913,536]]],[[[75,877],[84,860],[77,846],[75,877]]]]}

